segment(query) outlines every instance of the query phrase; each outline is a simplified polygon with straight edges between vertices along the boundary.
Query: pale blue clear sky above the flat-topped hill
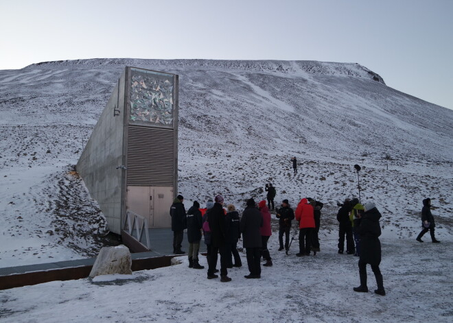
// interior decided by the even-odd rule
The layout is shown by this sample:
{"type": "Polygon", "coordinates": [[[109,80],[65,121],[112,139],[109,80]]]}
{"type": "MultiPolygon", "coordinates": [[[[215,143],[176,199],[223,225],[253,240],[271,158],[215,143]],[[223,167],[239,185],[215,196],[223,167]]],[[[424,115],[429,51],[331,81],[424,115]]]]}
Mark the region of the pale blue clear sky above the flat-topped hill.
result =
{"type": "Polygon", "coordinates": [[[453,0],[0,0],[0,69],[84,58],[357,62],[453,109],[453,0]]]}

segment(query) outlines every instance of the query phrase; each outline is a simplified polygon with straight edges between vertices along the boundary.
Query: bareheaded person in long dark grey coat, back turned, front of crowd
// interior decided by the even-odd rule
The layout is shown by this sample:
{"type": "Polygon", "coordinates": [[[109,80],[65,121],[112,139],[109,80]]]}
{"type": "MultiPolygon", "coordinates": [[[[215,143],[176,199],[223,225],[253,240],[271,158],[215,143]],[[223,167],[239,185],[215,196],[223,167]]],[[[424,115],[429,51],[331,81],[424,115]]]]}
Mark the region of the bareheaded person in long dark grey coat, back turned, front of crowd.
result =
{"type": "Polygon", "coordinates": [[[244,241],[244,248],[246,249],[247,265],[250,274],[244,276],[245,278],[261,278],[261,231],[263,226],[263,217],[256,208],[255,200],[253,198],[247,201],[247,207],[242,213],[240,221],[240,228],[242,232],[242,239],[244,241]]]}

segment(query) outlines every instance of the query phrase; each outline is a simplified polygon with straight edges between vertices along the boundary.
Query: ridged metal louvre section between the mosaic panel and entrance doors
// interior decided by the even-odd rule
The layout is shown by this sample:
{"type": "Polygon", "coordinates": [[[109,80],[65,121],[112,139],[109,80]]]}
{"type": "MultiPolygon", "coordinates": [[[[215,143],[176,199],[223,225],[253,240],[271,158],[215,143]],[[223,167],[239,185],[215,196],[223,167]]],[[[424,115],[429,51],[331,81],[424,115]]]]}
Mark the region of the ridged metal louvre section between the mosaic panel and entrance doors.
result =
{"type": "Polygon", "coordinates": [[[174,130],[128,126],[127,184],[128,186],[174,185],[174,130]]]}

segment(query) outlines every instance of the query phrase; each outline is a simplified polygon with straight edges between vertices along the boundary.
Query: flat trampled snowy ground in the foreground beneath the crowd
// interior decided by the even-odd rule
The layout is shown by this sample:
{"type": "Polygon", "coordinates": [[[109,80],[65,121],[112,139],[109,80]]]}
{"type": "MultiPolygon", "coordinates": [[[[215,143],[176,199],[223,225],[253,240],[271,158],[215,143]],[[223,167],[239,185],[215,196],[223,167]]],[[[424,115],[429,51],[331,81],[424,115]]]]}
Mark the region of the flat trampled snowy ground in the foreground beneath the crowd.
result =
{"type": "MultiPolygon", "coordinates": [[[[183,264],[135,272],[133,278],[93,282],[56,281],[1,291],[0,322],[452,322],[452,239],[439,244],[382,239],[386,296],[356,293],[358,259],[336,253],[336,234],[321,235],[321,252],[298,258],[278,252],[270,239],[273,267],[247,280],[207,280],[206,270],[183,264]]],[[[426,239],[429,240],[429,239],[426,239]]],[[[204,256],[200,263],[207,266],[204,256]]],[[[102,277],[102,276],[101,276],[102,277]]]]}

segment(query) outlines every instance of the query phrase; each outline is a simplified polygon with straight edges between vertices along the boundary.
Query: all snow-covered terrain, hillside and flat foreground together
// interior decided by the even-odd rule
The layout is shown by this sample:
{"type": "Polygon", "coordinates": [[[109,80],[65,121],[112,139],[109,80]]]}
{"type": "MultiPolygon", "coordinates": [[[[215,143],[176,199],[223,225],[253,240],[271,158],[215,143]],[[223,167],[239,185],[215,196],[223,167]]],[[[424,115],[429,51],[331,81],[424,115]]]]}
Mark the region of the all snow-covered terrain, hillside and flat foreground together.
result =
{"type": "Polygon", "coordinates": [[[124,280],[46,283],[1,291],[0,321],[452,322],[453,110],[360,64],[93,59],[0,71],[0,267],[100,250],[106,222],[73,165],[126,66],[179,75],[186,208],[222,193],[242,210],[272,182],[277,203],[325,203],[321,252],[286,256],[273,232],[274,266],[260,280],[246,280],[244,266],[220,283],[183,263],[124,280]],[[384,297],[372,293],[371,270],[371,291],[354,293],[357,258],[336,253],[336,202],[358,196],[355,164],[362,202],[382,213],[384,297]],[[428,197],[437,244],[429,234],[415,241],[428,197]]]}

